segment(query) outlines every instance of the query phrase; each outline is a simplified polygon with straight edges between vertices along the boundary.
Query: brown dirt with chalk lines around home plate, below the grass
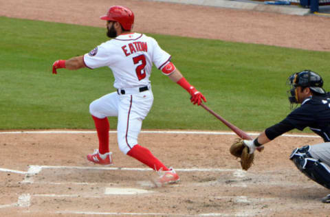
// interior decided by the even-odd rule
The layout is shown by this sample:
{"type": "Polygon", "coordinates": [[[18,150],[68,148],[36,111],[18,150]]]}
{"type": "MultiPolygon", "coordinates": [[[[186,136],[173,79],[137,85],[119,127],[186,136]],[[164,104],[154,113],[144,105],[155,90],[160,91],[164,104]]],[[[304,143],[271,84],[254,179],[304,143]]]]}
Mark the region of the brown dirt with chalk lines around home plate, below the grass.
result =
{"type": "MultiPolygon", "coordinates": [[[[218,133],[218,134],[212,134],[218,133]]],[[[126,157],[110,134],[115,165],[87,162],[96,133],[0,134],[1,216],[327,216],[329,190],[296,170],[288,156],[315,137],[280,137],[251,170],[228,152],[234,135],[142,133],[140,144],[181,181],[155,187],[156,173],[126,157]],[[159,139],[160,138],[160,139],[159,139]],[[22,150],[20,152],[15,149],[22,150]],[[124,194],[125,190],[146,192],[124,194]],[[116,193],[115,190],[119,190],[116,193]],[[6,206],[5,206],[6,205],[6,206]]]]}

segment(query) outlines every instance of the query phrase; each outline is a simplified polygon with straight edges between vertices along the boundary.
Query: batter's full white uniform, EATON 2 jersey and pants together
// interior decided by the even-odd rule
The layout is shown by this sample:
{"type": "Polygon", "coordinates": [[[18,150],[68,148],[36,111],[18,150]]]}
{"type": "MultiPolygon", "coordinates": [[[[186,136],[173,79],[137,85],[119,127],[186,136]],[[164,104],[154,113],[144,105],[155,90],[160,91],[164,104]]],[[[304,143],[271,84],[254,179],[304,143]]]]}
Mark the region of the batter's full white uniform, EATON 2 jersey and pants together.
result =
{"type": "Polygon", "coordinates": [[[153,105],[151,68],[155,64],[161,69],[169,60],[155,39],[139,33],[120,35],[84,55],[91,69],[109,67],[115,77],[113,86],[120,89],[91,102],[89,112],[98,118],[118,117],[118,146],[124,154],[137,144],[142,120],[153,105]]]}

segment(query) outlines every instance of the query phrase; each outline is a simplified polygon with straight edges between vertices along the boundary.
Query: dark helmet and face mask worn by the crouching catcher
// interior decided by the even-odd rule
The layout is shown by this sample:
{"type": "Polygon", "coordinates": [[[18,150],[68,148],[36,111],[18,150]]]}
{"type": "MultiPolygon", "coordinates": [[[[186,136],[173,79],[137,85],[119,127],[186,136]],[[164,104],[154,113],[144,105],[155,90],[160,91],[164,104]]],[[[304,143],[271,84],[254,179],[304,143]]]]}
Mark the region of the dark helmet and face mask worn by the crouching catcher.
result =
{"type": "Polygon", "coordinates": [[[287,84],[290,89],[287,91],[290,104],[298,104],[297,87],[309,87],[314,94],[325,94],[325,90],[322,89],[323,80],[321,76],[311,70],[304,70],[293,73],[287,79],[287,84]]]}

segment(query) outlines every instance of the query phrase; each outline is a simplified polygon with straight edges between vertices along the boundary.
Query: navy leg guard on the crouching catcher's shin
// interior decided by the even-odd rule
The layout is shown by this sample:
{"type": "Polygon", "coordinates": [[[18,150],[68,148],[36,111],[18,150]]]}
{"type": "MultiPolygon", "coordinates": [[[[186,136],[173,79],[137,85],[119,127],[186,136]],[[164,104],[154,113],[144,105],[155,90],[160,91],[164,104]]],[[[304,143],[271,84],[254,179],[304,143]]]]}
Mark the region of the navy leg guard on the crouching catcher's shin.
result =
{"type": "Polygon", "coordinates": [[[320,160],[312,158],[308,150],[309,146],[296,148],[290,155],[290,159],[298,170],[303,172],[309,179],[330,189],[330,168],[320,160]]]}

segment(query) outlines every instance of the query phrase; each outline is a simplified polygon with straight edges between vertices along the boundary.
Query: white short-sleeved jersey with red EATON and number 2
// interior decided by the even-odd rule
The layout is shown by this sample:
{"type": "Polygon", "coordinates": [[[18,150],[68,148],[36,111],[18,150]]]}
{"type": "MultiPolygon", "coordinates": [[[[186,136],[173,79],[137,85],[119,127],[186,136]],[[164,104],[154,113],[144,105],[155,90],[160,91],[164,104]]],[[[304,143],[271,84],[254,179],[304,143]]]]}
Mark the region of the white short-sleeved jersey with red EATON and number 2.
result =
{"type": "Polygon", "coordinates": [[[170,54],[154,38],[140,33],[122,34],[84,56],[90,69],[107,66],[112,70],[116,89],[148,85],[153,63],[160,69],[169,60],[170,54]]]}

